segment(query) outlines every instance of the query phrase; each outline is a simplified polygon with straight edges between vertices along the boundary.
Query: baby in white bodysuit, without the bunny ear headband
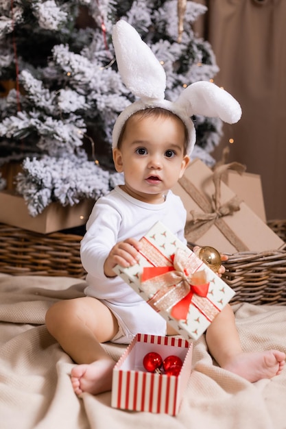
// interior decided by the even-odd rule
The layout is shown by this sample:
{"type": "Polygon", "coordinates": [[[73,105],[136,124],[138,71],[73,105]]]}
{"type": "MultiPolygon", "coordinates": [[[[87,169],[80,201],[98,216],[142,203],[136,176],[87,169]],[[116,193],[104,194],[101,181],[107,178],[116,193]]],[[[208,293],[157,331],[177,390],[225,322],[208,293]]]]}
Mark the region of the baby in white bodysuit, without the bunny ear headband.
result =
{"type": "MultiPolygon", "coordinates": [[[[47,311],[47,329],[79,364],[71,371],[78,395],[111,388],[115,362],[101,343],[127,344],[136,332],[177,334],[113,267],[136,263],[139,238],[158,220],[186,242],[186,211],[170,188],[189,164],[187,142],[184,123],[162,108],[136,112],[123,125],[113,158],[117,171],[124,173],[124,184],[96,202],[82,240],[86,297],[58,302],[47,311]]],[[[206,343],[221,367],[250,382],[278,375],[285,363],[285,354],[277,350],[241,350],[229,305],[211,323],[206,343]]]]}

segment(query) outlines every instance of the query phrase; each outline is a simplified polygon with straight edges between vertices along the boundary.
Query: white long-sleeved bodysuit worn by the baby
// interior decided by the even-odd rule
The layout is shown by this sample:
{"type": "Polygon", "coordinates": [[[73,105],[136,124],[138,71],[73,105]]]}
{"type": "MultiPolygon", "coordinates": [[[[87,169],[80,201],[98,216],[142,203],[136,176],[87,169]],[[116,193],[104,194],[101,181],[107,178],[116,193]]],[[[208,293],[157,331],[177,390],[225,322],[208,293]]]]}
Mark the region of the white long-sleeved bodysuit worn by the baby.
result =
{"type": "Polygon", "coordinates": [[[166,322],[119,276],[108,278],[104,262],[110,249],[126,238],[139,240],[161,221],[186,243],[186,210],[180,197],[171,191],[162,204],[147,204],[128,195],[119,186],[95,203],[82,238],[82,265],[87,272],[85,293],[100,299],[119,323],[119,334],[112,340],[128,344],[136,333],[166,335],[166,322]]]}

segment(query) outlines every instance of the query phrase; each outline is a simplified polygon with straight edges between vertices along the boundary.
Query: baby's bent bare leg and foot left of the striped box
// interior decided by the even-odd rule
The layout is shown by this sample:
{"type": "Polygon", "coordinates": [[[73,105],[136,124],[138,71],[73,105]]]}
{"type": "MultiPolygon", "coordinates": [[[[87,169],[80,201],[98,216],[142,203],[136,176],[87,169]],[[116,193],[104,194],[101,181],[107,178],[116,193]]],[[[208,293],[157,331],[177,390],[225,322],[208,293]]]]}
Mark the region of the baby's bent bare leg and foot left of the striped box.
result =
{"type": "Polygon", "coordinates": [[[109,308],[92,297],[67,299],[49,308],[46,325],[63,350],[79,364],[71,371],[75,393],[110,390],[115,362],[100,344],[118,331],[109,308]]]}

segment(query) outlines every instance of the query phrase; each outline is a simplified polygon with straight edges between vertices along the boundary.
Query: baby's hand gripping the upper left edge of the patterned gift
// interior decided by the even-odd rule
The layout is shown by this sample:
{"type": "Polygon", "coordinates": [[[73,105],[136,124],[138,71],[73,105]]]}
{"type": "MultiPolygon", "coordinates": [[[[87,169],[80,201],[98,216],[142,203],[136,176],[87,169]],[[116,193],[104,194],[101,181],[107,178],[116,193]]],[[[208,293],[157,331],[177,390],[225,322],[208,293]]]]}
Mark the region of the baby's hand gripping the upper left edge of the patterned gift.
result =
{"type": "Polygon", "coordinates": [[[117,264],[124,268],[136,264],[139,260],[140,249],[141,243],[135,238],[127,238],[113,246],[104,262],[104,274],[106,277],[115,277],[116,274],[113,268],[117,264]]]}

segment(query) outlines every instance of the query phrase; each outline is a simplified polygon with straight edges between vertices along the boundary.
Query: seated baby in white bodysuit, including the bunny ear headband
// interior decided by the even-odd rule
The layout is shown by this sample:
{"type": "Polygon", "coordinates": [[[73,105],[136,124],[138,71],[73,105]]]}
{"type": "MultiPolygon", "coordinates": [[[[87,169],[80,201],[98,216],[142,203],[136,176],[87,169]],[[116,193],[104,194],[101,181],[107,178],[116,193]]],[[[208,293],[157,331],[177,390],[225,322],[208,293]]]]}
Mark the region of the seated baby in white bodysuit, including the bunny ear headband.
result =
{"type": "MultiPolygon", "coordinates": [[[[195,145],[191,116],[205,114],[234,123],[239,103],[210,82],[195,82],[176,102],[165,100],[166,76],[160,62],[126,21],[113,29],[119,73],[138,98],[119,115],[112,134],[115,169],[124,184],[97,200],[82,239],[88,273],[85,297],[57,302],[47,311],[47,329],[71,356],[76,394],[111,389],[114,360],[102,343],[128,344],[135,334],[177,334],[113,268],[134,265],[140,238],[161,221],[180,241],[186,210],[171,188],[187,168],[195,145]]],[[[207,243],[206,243],[207,244],[207,243]]],[[[219,274],[224,268],[219,269],[219,274]]],[[[241,350],[232,308],[227,305],[206,331],[208,350],[224,369],[250,382],[278,375],[285,353],[241,350]]]]}

